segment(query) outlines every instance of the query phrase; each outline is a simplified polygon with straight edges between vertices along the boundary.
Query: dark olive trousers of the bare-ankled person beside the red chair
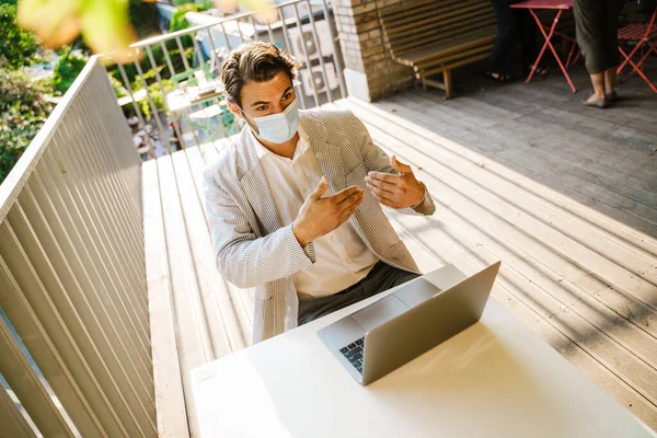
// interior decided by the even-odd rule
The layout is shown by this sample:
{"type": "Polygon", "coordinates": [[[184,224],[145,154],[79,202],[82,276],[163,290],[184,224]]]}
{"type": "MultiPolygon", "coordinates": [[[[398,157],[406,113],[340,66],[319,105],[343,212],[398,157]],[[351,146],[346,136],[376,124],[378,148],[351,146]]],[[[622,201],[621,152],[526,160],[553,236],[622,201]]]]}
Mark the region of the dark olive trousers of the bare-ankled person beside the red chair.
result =
{"type": "Polygon", "coordinates": [[[575,0],[577,45],[589,74],[619,65],[619,14],[615,0],[575,0]]]}

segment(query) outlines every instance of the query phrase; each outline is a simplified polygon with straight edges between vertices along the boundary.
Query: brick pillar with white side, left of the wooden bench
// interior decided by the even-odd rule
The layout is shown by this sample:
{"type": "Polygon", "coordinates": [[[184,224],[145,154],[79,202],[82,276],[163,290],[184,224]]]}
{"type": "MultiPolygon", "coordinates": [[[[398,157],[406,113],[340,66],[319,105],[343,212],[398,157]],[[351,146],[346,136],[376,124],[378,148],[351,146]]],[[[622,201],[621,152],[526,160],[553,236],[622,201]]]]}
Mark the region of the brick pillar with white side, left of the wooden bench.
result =
{"type": "Polygon", "coordinates": [[[378,14],[379,9],[400,3],[400,0],[332,0],[350,95],[372,102],[413,84],[413,69],[391,59],[378,14]]]}

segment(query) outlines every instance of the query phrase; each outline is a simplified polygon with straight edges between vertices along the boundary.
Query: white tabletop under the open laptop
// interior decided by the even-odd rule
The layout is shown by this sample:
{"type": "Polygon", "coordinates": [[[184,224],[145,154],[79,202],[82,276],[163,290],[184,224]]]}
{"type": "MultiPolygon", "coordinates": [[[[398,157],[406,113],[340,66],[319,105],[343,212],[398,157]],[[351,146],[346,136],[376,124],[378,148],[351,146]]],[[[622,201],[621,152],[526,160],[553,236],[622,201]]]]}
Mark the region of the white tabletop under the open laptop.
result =
{"type": "Polygon", "coordinates": [[[196,368],[201,436],[657,436],[494,299],[481,322],[360,387],[316,331],[373,300],[196,368]]]}

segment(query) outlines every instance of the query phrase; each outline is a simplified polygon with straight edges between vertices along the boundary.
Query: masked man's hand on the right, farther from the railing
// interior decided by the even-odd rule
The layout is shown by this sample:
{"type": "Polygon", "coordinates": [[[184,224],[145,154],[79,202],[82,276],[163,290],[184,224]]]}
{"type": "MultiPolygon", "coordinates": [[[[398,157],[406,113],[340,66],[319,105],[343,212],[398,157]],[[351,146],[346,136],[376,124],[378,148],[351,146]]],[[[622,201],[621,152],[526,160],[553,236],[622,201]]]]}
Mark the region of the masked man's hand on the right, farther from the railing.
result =
{"type": "Polygon", "coordinates": [[[425,186],[415,178],[408,164],[397,161],[395,155],[390,158],[390,164],[400,174],[369,172],[365,177],[377,200],[388,207],[400,209],[415,207],[425,196],[425,186]]]}

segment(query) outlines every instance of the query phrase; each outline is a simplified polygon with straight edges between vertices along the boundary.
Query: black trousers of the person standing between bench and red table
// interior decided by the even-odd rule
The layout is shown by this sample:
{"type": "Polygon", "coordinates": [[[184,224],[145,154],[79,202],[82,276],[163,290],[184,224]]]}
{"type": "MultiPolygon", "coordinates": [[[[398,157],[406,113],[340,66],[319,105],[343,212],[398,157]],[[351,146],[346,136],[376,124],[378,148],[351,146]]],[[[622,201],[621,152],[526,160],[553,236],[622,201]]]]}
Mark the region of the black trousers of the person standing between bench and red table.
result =
{"type": "Polygon", "coordinates": [[[497,20],[497,38],[491,53],[491,72],[507,74],[512,60],[514,44],[522,46],[522,67],[528,69],[538,56],[537,23],[525,9],[511,9],[509,0],[491,0],[497,20]]]}

